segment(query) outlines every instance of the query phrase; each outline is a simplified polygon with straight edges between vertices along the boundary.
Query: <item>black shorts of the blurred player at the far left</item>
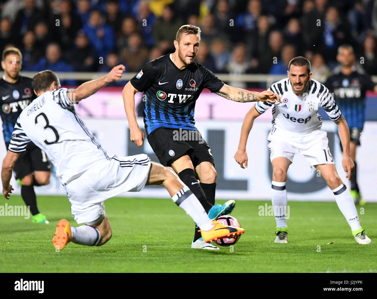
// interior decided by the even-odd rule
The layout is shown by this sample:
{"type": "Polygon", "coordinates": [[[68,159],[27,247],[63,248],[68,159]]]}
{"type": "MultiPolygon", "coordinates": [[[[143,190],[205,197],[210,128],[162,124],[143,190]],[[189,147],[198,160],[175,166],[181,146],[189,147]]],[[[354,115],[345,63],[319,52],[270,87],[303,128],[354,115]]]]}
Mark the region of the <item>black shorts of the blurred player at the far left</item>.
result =
{"type": "MultiPolygon", "coordinates": [[[[9,142],[5,143],[8,149],[9,142]]],[[[51,171],[51,163],[44,151],[42,151],[34,143],[29,142],[26,151],[20,153],[16,163],[14,163],[13,171],[16,180],[31,174],[34,171],[51,171]]]]}

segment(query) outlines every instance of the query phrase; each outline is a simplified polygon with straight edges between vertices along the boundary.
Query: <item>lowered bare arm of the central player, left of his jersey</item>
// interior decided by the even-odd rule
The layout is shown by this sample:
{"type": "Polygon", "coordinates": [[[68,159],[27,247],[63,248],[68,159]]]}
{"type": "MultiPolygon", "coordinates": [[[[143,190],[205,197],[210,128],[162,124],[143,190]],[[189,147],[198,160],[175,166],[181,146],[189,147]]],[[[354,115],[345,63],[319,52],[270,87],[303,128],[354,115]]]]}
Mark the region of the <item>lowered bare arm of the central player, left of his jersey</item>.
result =
{"type": "Polygon", "coordinates": [[[123,104],[124,110],[127,114],[128,125],[130,127],[130,139],[137,146],[142,146],[144,141],[144,133],[140,130],[138,122],[136,121],[135,114],[135,93],[137,93],[135,87],[129,81],[123,88],[123,104]]]}

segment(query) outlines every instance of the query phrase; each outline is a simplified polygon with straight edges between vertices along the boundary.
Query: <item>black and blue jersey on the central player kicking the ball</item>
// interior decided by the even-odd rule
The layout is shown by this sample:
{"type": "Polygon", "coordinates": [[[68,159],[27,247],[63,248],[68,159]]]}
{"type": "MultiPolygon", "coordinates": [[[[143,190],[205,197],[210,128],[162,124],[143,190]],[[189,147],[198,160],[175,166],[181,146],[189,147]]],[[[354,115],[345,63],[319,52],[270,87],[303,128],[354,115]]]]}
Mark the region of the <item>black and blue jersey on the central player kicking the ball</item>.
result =
{"type": "Polygon", "coordinates": [[[171,54],[149,61],[131,79],[144,92],[144,124],[147,134],[160,127],[196,130],[195,102],[204,88],[218,92],[224,82],[195,61],[178,69],[171,54]]]}

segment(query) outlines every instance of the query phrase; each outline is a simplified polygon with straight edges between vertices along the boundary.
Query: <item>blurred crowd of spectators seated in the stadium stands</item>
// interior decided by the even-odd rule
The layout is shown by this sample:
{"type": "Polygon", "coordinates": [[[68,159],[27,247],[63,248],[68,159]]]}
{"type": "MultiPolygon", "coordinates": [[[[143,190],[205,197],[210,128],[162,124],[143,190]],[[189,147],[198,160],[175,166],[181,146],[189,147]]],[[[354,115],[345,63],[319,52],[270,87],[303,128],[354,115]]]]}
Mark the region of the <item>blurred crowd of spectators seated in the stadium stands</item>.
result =
{"type": "Polygon", "coordinates": [[[1,10],[0,49],[19,47],[23,70],[138,72],[173,52],[187,23],[201,27],[196,61],[214,73],[284,74],[302,55],[327,75],[348,43],[377,74],[373,0],[8,0],[1,10]]]}

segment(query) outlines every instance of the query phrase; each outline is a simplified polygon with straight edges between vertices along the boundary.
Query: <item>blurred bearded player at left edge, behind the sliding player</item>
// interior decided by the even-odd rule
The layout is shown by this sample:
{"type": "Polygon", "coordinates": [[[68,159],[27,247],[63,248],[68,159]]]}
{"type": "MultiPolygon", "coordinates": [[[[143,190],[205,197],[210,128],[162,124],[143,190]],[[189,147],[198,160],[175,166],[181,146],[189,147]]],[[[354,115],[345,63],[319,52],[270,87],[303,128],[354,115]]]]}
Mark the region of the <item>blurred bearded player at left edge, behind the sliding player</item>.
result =
{"type": "MultiPolygon", "coordinates": [[[[1,66],[4,70],[0,79],[2,97],[1,118],[6,148],[12,139],[12,132],[22,110],[36,98],[31,86],[32,79],[20,76],[22,54],[15,47],[3,51],[1,66]]],[[[50,162],[46,153],[30,142],[14,165],[15,177],[21,186],[21,196],[33,215],[33,223],[49,223],[37,207],[34,186],[47,185],[50,181],[50,162]]]]}

